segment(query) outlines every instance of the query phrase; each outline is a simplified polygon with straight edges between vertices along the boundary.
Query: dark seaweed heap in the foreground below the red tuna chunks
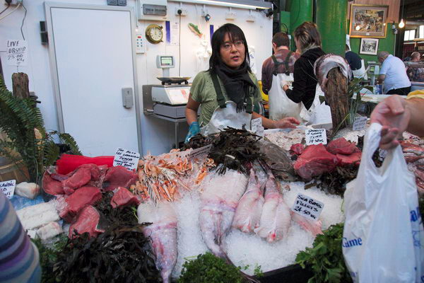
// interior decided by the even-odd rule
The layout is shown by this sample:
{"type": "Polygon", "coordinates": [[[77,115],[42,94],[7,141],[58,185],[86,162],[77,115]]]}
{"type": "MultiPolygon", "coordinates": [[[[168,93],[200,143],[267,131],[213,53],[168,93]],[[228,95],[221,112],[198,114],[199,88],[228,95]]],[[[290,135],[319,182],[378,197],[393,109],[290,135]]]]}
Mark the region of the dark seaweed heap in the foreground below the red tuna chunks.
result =
{"type": "Polygon", "coordinates": [[[83,233],[70,239],[57,256],[54,276],[58,282],[160,282],[149,238],[138,224],[134,207],[112,209],[112,192],[95,205],[105,232],[97,238],[83,233]]]}

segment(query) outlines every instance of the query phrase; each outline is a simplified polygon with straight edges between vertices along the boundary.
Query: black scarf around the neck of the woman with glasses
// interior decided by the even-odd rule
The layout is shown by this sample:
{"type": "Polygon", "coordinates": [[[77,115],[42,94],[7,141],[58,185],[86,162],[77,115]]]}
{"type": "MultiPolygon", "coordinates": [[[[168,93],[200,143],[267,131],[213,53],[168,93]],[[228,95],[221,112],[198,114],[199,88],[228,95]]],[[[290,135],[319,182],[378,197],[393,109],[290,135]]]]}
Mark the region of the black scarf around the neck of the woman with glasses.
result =
{"type": "Polygon", "coordinates": [[[244,62],[239,69],[235,70],[220,62],[213,71],[223,82],[228,98],[237,104],[237,112],[245,110],[246,101],[246,112],[252,113],[253,101],[254,97],[257,96],[258,88],[249,77],[247,63],[244,62]]]}

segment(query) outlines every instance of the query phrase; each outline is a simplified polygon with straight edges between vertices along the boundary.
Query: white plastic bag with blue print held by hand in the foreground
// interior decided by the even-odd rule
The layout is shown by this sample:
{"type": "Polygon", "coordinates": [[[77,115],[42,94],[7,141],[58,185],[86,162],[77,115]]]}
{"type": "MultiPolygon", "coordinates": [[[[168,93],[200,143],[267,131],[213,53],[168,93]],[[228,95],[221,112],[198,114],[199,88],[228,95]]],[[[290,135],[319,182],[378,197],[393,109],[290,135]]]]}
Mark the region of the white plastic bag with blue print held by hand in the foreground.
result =
{"type": "Polygon", "coordinates": [[[358,176],[345,192],[342,249],[354,282],[424,282],[424,232],[415,177],[400,146],[377,168],[372,154],[382,126],[365,135],[358,176]]]}

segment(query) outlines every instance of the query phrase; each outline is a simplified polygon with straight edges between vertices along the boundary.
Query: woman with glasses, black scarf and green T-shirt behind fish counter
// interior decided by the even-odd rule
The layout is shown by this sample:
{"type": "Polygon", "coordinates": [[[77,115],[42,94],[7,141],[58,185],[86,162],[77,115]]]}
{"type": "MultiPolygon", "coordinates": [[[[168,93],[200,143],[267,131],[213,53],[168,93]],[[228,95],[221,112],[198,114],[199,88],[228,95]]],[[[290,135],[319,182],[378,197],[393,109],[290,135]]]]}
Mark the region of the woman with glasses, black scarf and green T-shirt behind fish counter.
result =
{"type": "Polygon", "coordinates": [[[261,93],[249,67],[249,50],[243,31],[226,23],[213,33],[209,69],[196,75],[185,110],[190,125],[186,142],[195,134],[212,134],[225,127],[250,128],[250,121],[261,118],[266,128],[295,127],[293,117],[278,121],[259,114],[261,93]],[[197,110],[201,106],[199,120],[197,110]]]}

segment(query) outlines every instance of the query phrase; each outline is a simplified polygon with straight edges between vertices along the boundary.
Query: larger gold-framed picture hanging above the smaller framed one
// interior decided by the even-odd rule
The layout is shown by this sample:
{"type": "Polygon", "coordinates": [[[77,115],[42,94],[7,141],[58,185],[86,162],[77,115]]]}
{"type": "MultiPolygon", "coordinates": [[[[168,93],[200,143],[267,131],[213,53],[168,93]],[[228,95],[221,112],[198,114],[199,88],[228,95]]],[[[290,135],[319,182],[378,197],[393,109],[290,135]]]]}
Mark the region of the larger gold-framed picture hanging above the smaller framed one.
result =
{"type": "Polygon", "coordinates": [[[386,37],[387,5],[361,5],[351,6],[351,37],[386,37]]]}

